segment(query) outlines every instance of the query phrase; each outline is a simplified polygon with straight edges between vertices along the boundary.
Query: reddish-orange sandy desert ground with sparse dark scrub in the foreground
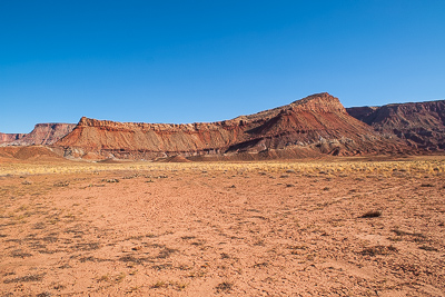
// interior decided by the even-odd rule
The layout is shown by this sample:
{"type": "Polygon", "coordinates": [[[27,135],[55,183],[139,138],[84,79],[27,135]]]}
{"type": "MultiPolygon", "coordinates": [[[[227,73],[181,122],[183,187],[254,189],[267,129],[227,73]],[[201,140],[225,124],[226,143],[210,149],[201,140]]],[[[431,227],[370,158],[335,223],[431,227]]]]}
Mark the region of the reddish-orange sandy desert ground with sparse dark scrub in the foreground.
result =
{"type": "Polygon", "coordinates": [[[444,161],[372,166],[2,176],[1,296],[445,296],[444,161]]]}

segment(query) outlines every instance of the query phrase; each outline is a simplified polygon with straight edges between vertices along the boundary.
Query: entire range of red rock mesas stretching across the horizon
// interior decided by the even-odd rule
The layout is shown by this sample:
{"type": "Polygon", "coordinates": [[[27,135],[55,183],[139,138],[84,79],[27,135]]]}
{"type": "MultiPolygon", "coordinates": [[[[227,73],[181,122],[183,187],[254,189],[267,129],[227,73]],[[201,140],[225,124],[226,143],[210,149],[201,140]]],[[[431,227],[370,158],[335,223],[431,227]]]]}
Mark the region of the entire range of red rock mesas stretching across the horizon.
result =
{"type": "MultiPolygon", "coordinates": [[[[0,146],[42,145],[51,154],[68,159],[102,161],[185,162],[443,152],[445,101],[345,109],[338,98],[323,92],[217,122],[116,122],[82,117],[77,125],[38,123],[28,135],[0,133],[0,146]]],[[[42,154],[40,149],[34,152],[42,154]]],[[[3,157],[17,154],[4,152],[3,157]]]]}

